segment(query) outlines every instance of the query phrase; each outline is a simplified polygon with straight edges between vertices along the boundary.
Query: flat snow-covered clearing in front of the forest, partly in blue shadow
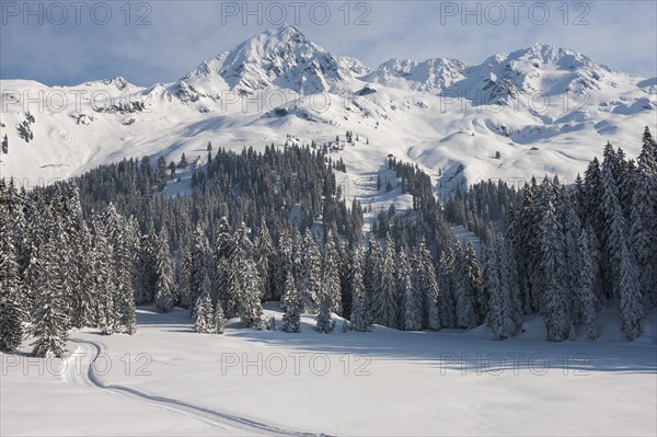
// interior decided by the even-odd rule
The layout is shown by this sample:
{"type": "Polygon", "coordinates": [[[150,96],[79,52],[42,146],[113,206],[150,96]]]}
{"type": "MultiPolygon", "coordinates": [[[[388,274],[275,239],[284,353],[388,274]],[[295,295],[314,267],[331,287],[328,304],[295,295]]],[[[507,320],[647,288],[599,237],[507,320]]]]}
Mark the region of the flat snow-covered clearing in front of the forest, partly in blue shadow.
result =
{"type": "Polygon", "coordinates": [[[483,326],[319,334],[310,315],[299,334],[195,334],[187,311],[141,308],[134,336],[72,333],[66,365],[1,355],[0,434],[654,436],[657,311],[631,344],[615,318],[596,343],[548,343],[538,317],[495,342],[483,326]]]}

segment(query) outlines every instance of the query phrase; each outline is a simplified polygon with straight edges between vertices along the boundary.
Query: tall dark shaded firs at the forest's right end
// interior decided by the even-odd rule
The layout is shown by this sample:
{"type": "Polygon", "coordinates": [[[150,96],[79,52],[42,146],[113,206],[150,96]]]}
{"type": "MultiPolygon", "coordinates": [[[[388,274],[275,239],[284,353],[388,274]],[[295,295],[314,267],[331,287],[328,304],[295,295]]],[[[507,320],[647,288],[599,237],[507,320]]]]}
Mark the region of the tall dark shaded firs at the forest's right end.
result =
{"type": "Polygon", "coordinates": [[[637,162],[608,143],[574,185],[532,179],[519,195],[484,252],[494,333],[508,337],[522,314],[539,312],[551,341],[578,325],[595,340],[598,311],[618,302],[623,335],[636,338],[657,303],[657,145],[648,128],[637,162]]]}

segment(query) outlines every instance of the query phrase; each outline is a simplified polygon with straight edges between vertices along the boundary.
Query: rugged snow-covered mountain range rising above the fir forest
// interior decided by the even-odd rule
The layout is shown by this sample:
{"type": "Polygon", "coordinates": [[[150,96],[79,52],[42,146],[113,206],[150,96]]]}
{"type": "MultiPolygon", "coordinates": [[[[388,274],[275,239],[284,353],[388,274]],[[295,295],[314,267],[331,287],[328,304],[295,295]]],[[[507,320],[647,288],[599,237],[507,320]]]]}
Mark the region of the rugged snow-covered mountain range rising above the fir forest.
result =
{"type": "Polygon", "coordinates": [[[355,177],[394,154],[442,187],[463,177],[572,179],[608,140],[637,154],[643,127],[657,130],[656,83],[541,44],[476,66],[391,59],[370,70],[283,26],[173,83],[0,81],[0,174],[34,185],[124,157],[185,152],[203,163],[208,141],[264,148],[349,130],[360,141],[333,153],[355,177]]]}

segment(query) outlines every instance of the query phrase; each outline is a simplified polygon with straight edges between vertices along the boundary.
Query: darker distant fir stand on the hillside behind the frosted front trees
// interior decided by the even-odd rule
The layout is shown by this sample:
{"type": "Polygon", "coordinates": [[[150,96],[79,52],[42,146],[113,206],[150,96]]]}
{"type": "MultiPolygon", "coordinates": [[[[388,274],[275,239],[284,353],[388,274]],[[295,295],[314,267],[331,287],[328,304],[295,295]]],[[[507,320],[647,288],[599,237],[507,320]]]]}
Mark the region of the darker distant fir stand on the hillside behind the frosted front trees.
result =
{"type": "Polygon", "coordinates": [[[244,222],[254,230],[265,222],[275,241],[289,227],[290,215],[301,231],[321,218],[325,232],[349,241],[362,233],[360,205],[351,205],[349,211],[335,181],[334,162],[323,149],[267,146],[262,153],[219,149],[208,151],[203,168],[191,165],[193,193],[174,197],[159,194],[162,183],[171,181],[161,159],[160,171],[148,157],[99,166],[77,180],[83,211],[113,203],[123,216],[138,218],[142,232],[150,223],[166,228],[174,256],[192,242],[196,225],[215,241],[222,217],[231,227],[244,222]]]}

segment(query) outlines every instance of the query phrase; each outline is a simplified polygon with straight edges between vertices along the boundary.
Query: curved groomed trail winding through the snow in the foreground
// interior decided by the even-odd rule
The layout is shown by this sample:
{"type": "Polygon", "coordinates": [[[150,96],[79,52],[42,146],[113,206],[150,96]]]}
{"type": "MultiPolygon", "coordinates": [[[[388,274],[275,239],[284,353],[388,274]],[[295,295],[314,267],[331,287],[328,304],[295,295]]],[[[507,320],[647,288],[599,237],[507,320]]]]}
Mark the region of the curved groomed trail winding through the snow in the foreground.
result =
{"type": "Polygon", "coordinates": [[[90,352],[90,349],[93,349],[93,353],[85,354],[82,356],[82,358],[91,357],[91,360],[87,361],[82,359],[78,361],[82,365],[81,369],[78,369],[77,366],[68,366],[69,370],[67,371],[67,377],[72,383],[79,386],[93,387],[108,392],[122,394],[223,429],[234,429],[237,432],[249,433],[252,435],[297,437],[327,436],[325,434],[313,434],[293,429],[279,428],[277,426],[268,425],[257,421],[252,421],[250,418],[222,413],[205,406],[194,405],[192,403],[181,401],[177,399],[147,393],[127,386],[104,383],[94,372],[94,365],[102,353],[102,346],[99,343],[83,340],[71,338],[69,341],[81,345],[84,349],[87,349],[88,353],[90,352]]]}

